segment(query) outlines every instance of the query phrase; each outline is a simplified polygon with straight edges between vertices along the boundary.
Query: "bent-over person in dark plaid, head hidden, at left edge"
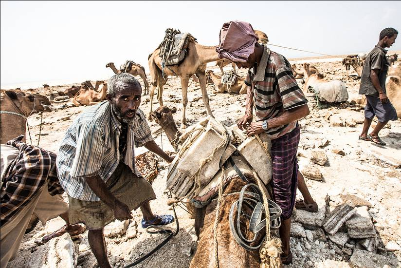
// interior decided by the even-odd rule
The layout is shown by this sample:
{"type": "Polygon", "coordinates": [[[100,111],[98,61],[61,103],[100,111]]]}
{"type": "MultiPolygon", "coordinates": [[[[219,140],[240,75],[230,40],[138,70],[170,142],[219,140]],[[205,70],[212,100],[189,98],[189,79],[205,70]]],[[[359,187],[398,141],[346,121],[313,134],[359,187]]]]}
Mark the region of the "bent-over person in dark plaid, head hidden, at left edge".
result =
{"type": "Polygon", "coordinates": [[[22,142],[23,135],[1,144],[0,190],[0,268],[14,259],[33,214],[43,225],[57,216],[66,225],[42,238],[42,242],[65,232],[76,235],[85,231],[80,225],[70,225],[68,204],[57,178],[56,155],[22,142]]]}

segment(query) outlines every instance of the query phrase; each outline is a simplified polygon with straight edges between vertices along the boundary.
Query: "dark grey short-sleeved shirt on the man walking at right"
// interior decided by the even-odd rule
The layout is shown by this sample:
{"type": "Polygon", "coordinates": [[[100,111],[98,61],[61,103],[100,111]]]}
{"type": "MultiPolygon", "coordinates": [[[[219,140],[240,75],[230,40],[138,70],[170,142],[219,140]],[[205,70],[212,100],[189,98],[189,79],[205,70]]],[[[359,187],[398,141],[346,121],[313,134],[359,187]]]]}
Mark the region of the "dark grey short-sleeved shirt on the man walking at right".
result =
{"type": "Polygon", "coordinates": [[[388,61],[386,58],[387,50],[380,46],[375,46],[365,58],[364,69],[362,70],[361,85],[359,87],[359,94],[379,96],[376,88],[373,86],[372,80],[370,79],[370,71],[379,69],[379,82],[383,88],[384,93],[386,92],[386,77],[388,72],[388,61]]]}

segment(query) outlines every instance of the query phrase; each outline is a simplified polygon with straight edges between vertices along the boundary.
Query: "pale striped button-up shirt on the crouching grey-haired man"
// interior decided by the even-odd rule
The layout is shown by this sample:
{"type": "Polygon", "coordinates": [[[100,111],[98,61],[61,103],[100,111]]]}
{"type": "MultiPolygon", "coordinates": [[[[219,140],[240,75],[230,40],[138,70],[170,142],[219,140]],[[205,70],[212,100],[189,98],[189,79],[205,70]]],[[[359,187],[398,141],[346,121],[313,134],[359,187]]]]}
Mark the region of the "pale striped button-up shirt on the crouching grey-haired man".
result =
{"type": "Polygon", "coordinates": [[[61,186],[73,198],[99,201],[85,178],[99,175],[107,181],[120,161],[138,176],[135,168],[134,145],[140,147],[153,140],[144,113],[138,109],[135,120],[128,126],[127,150],[120,159],[121,123],[108,101],[82,112],[67,130],[57,156],[57,171],[61,186]]]}

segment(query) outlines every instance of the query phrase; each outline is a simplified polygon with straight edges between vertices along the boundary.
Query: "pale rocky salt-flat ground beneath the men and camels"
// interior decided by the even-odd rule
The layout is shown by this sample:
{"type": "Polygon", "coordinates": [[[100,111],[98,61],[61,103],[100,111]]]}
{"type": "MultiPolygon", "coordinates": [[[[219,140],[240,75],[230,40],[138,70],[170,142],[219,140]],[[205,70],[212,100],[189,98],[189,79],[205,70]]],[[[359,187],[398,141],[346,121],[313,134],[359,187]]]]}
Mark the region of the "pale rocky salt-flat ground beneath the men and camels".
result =
{"type": "MultiPolygon", "coordinates": [[[[350,77],[356,73],[353,70],[346,71],[340,60],[308,61],[328,79],[343,80],[349,100],[357,97],[360,81],[350,77]]],[[[218,69],[215,73],[218,73],[218,69]]],[[[246,74],[245,70],[239,70],[238,73],[242,76],[246,74]]],[[[302,86],[302,79],[297,81],[302,86]]],[[[51,92],[56,93],[70,86],[52,86],[45,93],[50,96],[51,92]]],[[[216,118],[227,126],[235,124],[244,113],[245,95],[213,94],[213,85],[208,85],[207,90],[216,118]]],[[[44,93],[43,89],[38,91],[44,93]]],[[[178,112],[174,116],[180,126],[182,93],[179,78],[169,78],[163,95],[164,105],[177,107],[178,112]]],[[[43,114],[39,145],[53,152],[58,151],[59,143],[73,120],[86,109],[74,107],[71,99],[56,99],[52,105],[54,111],[43,114]]],[[[188,99],[186,116],[192,125],[206,115],[200,88],[193,81],[188,88],[188,99]]],[[[153,101],[156,103],[156,98],[153,101]]],[[[143,96],[140,107],[146,114],[149,112],[149,102],[149,97],[143,96]]],[[[294,211],[291,238],[294,259],[288,267],[400,267],[401,120],[390,122],[381,132],[387,146],[377,146],[358,140],[364,120],[363,108],[341,105],[318,110],[312,107],[312,102],[309,104],[310,115],[299,121],[302,134],[298,160],[319,211],[294,211]]],[[[158,107],[158,104],[154,107],[158,107]]],[[[36,144],[40,116],[32,115],[28,122],[32,142],[36,144]]],[[[149,125],[159,146],[163,146],[165,151],[173,151],[165,134],[160,132],[159,125],[155,122],[149,122],[149,125]]],[[[145,151],[139,148],[136,154],[145,151]]],[[[164,194],[167,167],[168,164],[159,159],[159,173],[152,184],[157,200],[150,203],[157,214],[172,213],[164,194]]],[[[301,198],[299,193],[297,198],[301,198]]],[[[178,235],[136,267],[189,266],[197,246],[194,220],[181,208],[177,209],[177,215],[180,223],[178,235]]],[[[148,234],[140,227],[139,210],[133,211],[133,216],[133,220],[114,222],[105,230],[109,260],[113,267],[129,265],[164,238],[164,235],[148,234]]],[[[96,260],[89,248],[88,232],[73,238],[65,234],[45,245],[38,242],[44,234],[62,225],[60,218],[44,227],[38,223],[33,231],[24,236],[17,258],[7,267],[96,267],[96,260]]],[[[170,228],[174,229],[175,224],[170,228]]]]}

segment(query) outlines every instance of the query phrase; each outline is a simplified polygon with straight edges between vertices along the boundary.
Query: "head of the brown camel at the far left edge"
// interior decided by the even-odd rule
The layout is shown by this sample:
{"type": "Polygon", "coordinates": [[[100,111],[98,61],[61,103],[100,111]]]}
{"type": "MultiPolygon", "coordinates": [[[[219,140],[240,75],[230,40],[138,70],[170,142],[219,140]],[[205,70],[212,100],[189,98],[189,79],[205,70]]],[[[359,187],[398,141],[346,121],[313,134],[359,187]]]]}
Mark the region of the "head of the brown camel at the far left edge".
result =
{"type": "Polygon", "coordinates": [[[8,98],[5,101],[11,101],[15,107],[25,116],[30,115],[33,112],[44,111],[44,106],[50,106],[52,103],[50,100],[40,94],[30,94],[22,92],[20,90],[5,90],[4,95],[8,98]]]}

